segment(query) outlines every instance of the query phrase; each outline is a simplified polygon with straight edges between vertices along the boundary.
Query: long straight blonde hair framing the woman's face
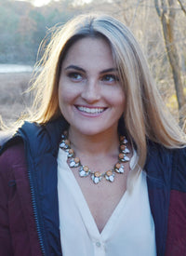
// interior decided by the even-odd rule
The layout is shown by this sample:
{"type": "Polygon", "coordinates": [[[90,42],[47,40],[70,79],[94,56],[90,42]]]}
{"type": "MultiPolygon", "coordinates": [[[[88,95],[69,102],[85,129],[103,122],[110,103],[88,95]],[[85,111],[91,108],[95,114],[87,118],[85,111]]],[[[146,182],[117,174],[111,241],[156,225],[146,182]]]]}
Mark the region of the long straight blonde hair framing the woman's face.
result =
{"type": "Polygon", "coordinates": [[[46,124],[61,116],[58,100],[61,62],[69,47],[87,36],[102,36],[110,44],[126,95],[124,118],[120,122],[136,146],[140,167],[145,163],[148,140],[167,148],[185,144],[178,125],[164,111],[165,106],[135,37],[122,22],[106,15],[78,16],[53,34],[39,62],[42,69],[33,83],[37,94],[30,120],[46,124]]]}

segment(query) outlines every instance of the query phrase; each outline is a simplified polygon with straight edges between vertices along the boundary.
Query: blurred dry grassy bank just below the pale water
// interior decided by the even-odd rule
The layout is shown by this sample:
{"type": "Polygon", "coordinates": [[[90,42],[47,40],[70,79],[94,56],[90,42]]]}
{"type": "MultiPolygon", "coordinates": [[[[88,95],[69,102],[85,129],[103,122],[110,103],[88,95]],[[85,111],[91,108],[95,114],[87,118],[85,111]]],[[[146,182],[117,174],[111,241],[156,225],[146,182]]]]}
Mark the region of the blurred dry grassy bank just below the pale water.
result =
{"type": "Polygon", "coordinates": [[[0,115],[6,123],[16,121],[30,104],[29,88],[31,72],[0,74],[0,115]]]}

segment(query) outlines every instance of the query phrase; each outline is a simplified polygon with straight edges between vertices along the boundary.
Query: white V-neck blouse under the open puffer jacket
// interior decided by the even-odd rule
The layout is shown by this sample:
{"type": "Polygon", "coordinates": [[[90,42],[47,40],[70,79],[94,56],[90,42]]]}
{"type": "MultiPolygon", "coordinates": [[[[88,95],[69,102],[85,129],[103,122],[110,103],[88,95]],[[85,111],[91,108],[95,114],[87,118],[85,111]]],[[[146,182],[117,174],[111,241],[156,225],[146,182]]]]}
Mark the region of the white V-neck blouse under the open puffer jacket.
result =
{"type": "MultiPolygon", "coordinates": [[[[135,157],[134,154],[130,165],[135,157]]],[[[156,255],[154,223],[143,171],[133,192],[126,191],[101,233],[62,149],[58,155],[58,194],[63,256],[156,255]]]]}

